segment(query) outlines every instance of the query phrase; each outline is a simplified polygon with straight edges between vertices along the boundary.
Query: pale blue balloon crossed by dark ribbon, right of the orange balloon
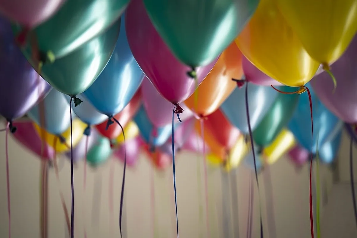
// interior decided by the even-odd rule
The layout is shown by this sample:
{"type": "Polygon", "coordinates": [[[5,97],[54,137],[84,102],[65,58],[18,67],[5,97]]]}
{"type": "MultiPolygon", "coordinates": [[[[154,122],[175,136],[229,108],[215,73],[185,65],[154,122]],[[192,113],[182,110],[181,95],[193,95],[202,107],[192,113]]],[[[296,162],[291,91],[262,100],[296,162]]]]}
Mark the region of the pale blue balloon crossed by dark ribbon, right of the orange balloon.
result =
{"type": "MultiPolygon", "coordinates": [[[[248,105],[252,130],[259,125],[269,111],[278,93],[271,87],[248,83],[248,105]]],[[[221,110],[227,119],[242,133],[249,133],[245,105],[245,88],[236,88],[222,103],[221,110]]]]}

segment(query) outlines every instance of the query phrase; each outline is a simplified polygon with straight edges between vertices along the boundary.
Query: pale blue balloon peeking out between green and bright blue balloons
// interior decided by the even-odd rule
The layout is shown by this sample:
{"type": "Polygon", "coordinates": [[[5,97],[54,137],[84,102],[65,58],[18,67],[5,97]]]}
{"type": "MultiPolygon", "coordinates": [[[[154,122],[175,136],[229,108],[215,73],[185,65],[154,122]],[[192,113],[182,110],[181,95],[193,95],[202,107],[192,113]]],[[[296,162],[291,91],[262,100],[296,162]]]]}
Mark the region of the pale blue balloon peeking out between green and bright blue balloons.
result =
{"type": "MultiPolygon", "coordinates": [[[[99,112],[87,99],[86,96],[80,94],[78,96],[83,102],[76,106],[72,102],[72,110],[76,116],[87,125],[97,125],[108,119],[107,115],[99,112]]],[[[66,95],[67,100],[70,102],[71,97],[66,95]]]]}

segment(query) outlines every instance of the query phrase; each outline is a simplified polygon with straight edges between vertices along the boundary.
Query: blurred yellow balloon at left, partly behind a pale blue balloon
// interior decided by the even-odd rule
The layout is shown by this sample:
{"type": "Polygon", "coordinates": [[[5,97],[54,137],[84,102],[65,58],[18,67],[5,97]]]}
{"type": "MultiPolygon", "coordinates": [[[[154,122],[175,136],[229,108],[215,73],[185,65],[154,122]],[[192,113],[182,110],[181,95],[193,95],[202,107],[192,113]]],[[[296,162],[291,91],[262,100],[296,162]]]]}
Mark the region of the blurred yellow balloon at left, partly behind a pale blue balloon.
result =
{"type": "MultiPolygon", "coordinates": [[[[65,139],[65,143],[61,143],[57,135],[48,133],[46,130],[38,126],[36,123],[34,125],[40,138],[44,138],[46,143],[53,147],[57,153],[62,153],[71,150],[71,127],[69,127],[61,136],[65,139]]],[[[83,132],[87,125],[81,120],[75,118],[72,122],[72,140],[73,147],[75,147],[83,136],[83,132]]]]}

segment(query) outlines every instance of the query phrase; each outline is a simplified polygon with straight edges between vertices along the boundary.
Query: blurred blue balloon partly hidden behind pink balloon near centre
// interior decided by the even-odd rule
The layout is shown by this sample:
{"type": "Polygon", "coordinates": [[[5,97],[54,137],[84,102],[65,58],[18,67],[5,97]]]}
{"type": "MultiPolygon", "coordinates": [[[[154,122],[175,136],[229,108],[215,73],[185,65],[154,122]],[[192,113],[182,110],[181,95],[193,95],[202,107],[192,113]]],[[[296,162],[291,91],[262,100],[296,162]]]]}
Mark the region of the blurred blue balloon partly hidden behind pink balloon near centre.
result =
{"type": "MultiPolygon", "coordinates": [[[[146,143],[152,146],[161,146],[172,135],[172,124],[163,127],[154,128],[154,125],[149,120],[144,106],[139,108],[139,111],[134,117],[134,122],[139,128],[140,135],[146,143]],[[154,131],[154,129],[156,131],[154,131]]],[[[174,130],[177,124],[174,124],[174,130]]]]}

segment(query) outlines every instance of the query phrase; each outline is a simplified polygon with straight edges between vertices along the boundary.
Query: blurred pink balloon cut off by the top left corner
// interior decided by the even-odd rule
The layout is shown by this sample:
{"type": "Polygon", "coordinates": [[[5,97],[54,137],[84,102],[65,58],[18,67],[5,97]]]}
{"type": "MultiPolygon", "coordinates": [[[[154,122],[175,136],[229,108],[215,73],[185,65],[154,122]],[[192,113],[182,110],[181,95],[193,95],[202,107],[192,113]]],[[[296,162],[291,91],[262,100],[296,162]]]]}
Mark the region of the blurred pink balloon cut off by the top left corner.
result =
{"type": "Polygon", "coordinates": [[[49,19],[66,0],[1,0],[1,14],[26,27],[35,27],[49,19]]]}

